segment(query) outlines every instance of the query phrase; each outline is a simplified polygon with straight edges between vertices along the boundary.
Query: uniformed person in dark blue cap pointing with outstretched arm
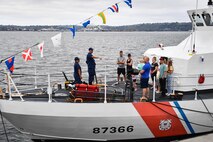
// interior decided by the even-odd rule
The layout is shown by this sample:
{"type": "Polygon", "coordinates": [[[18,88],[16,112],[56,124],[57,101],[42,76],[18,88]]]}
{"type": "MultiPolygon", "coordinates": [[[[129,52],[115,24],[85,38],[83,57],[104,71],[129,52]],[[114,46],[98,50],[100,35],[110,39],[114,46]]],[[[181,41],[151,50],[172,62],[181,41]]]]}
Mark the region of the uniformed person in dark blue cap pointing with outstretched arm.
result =
{"type": "MultiPolygon", "coordinates": [[[[95,59],[99,58],[96,57],[94,55],[92,55],[93,53],[93,48],[89,48],[89,52],[87,54],[87,58],[86,58],[86,63],[88,66],[88,74],[89,74],[89,85],[92,85],[92,82],[94,81],[94,77],[96,76],[96,72],[95,72],[95,59]]],[[[101,58],[99,58],[101,59],[101,58]]],[[[97,83],[97,78],[96,78],[96,83],[97,83]]]]}

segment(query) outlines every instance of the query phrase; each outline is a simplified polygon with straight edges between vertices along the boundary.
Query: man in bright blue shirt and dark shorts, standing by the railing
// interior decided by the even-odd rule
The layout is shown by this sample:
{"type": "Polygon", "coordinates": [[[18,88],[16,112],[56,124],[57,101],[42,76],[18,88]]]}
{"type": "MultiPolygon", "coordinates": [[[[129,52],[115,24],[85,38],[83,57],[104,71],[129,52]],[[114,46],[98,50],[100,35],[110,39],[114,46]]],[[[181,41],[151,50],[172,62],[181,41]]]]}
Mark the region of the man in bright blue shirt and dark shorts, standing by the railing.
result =
{"type": "Polygon", "coordinates": [[[151,65],[149,63],[149,57],[144,57],[144,66],[143,69],[140,71],[141,74],[141,88],[142,88],[142,100],[148,100],[149,98],[149,74],[151,70],[151,65]]]}

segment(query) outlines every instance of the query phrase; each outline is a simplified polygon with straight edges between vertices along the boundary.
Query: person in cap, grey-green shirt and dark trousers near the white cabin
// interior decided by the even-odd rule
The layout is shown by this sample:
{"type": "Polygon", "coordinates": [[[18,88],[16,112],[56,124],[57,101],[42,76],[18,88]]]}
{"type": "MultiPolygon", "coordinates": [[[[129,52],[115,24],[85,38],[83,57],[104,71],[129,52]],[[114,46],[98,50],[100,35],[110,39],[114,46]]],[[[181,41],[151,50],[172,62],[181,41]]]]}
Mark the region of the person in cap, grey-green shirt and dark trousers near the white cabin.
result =
{"type": "Polygon", "coordinates": [[[166,96],[166,77],[167,77],[167,65],[165,64],[165,58],[160,58],[160,89],[161,89],[161,97],[166,96]]]}

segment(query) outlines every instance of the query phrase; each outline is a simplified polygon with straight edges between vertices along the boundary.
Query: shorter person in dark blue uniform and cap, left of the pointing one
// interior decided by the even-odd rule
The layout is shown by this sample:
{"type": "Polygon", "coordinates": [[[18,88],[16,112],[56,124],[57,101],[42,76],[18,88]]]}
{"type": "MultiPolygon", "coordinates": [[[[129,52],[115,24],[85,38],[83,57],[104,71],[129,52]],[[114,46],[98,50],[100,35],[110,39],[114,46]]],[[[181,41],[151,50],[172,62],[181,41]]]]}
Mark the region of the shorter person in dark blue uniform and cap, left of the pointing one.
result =
{"type": "Polygon", "coordinates": [[[75,57],[75,64],[74,64],[74,78],[76,84],[81,84],[82,81],[82,71],[81,66],[79,65],[80,59],[78,57],[75,57]]]}

